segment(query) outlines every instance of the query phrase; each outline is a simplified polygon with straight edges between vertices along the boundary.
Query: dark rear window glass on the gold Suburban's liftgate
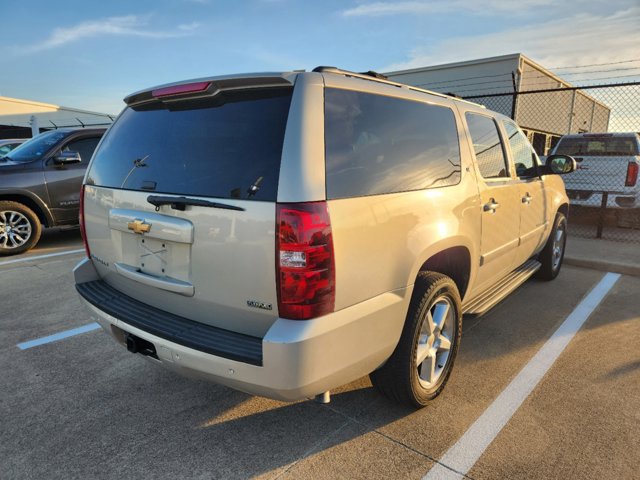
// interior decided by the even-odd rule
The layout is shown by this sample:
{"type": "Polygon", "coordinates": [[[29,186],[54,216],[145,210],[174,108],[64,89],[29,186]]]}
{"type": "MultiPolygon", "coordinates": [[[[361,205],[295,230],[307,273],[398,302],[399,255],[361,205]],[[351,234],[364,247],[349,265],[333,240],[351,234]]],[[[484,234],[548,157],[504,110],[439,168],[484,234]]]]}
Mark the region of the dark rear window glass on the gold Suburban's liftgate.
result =
{"type": "Polygon", "coordinates": [[[291,88],[127,108],[94,156],[87,183],[275,201],[291,88]]]}

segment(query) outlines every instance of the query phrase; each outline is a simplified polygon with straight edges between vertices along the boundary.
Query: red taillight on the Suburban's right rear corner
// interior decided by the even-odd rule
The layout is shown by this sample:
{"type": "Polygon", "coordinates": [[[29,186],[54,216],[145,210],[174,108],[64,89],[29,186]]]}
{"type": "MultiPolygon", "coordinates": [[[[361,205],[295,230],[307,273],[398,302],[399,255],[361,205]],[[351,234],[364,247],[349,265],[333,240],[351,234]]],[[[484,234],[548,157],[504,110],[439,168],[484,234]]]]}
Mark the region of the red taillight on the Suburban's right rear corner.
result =
{"type": "Polygon", "coordinates": [[[276,218],[280,317],[308,320],[333,312],[335,263],[327,203],[278,204],[276,218]]]}

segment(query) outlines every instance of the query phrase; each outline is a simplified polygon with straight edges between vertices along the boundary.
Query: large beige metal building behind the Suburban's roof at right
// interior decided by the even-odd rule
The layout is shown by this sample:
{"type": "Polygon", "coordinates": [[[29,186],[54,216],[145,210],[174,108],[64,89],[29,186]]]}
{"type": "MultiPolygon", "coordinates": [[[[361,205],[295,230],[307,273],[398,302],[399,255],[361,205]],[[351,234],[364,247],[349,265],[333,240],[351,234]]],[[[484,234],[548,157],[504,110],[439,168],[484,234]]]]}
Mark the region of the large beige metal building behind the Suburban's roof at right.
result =
{"type": "Polygon", "coordinates": [[[516,120],[536,151],[545,155],[567,133],[607,132],[611,109],[572,87],[530,58],[515,53],[385,73],[391,80],[453,93],[516,120]],[[536,94],[516,92],[539,91],[536,94]],[[496,94],[511,93],[513,95],[496,94]]]}

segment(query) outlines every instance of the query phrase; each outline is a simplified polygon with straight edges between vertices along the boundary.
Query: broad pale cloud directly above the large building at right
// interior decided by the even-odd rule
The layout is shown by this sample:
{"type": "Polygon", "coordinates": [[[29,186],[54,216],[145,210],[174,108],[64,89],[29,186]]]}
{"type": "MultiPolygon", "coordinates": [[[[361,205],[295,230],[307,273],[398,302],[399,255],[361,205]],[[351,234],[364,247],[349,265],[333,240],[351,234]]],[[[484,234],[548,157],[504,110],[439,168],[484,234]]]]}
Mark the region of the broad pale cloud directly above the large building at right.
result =
{"type": "Polygon", "coordinates": [[[578,13],[501,32],[454,37],[418,46],[407,60],[381,71],[404,70],[520,52],[542,65],[570,66],[638,58],[640,7],[608,16],[578,13]]]}

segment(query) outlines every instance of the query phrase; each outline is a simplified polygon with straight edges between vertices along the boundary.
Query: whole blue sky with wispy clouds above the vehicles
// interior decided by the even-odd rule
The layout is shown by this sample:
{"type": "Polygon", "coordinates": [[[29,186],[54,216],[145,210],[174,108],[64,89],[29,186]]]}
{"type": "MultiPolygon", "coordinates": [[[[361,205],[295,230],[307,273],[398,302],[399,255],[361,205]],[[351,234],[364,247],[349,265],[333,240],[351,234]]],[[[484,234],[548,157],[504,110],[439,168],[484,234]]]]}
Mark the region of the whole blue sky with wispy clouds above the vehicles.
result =
{"type": "Polygon", "coordinates": [[[640,80],[639,0],[0,0],[0,18],[1,96],[109,114],[164,83],[318,65],[523,53],[575,84],[640,80]]]}

